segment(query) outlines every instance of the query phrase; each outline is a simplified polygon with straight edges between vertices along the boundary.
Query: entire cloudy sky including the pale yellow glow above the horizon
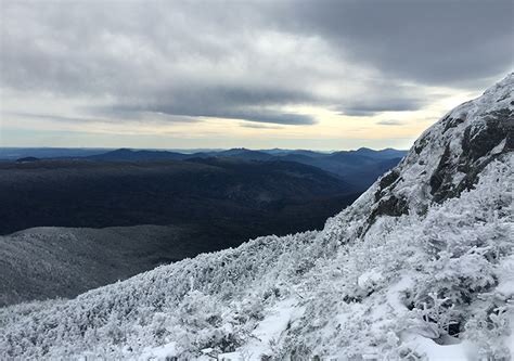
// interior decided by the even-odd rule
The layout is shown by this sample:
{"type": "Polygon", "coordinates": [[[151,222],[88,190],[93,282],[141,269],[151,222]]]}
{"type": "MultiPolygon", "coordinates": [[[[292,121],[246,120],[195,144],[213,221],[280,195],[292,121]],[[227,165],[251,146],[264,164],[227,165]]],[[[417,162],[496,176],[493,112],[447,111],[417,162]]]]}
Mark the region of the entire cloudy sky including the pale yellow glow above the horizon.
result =
{"type": "Polygon", "coordinates": [[[408,149],[514,69],[513,0],[0,7],[0,146],[408,149]]]}

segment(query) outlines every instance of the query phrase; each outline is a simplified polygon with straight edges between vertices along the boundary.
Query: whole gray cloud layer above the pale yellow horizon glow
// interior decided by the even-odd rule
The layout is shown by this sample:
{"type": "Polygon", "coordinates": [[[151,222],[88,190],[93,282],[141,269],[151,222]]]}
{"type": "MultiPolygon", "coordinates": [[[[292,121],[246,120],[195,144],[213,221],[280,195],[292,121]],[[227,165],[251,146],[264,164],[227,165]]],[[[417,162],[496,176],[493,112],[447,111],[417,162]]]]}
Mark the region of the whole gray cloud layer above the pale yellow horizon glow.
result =
{"type": "Polygon", "coordinates": [[[513,7],[4,1],[0,79],[27,96],[85,99],[77,119],[312,125],[286,108],[414,111],[437,98],[424,86],[481,88],[512,66],[513,7]]]}

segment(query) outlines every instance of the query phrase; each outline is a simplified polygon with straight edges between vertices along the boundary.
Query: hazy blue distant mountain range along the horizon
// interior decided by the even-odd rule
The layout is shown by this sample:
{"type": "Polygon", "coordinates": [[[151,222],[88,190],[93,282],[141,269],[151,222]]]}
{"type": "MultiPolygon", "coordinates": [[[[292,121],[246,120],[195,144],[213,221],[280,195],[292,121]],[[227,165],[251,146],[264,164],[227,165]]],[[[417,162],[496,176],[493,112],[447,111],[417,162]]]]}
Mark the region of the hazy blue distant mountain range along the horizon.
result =
{"type": "Polygon", "coordinates": [[[351,184],[356,191],[364,191],[382,173],[396,166],[407,151],[367,147],[357,151],[322,153],[308,150],[261,150],[244,147],[231,150],[201,151],[194,153],[158,150],[118,149],[0,149],[0,159],[18,163],[39,159],[86,159],[91,162],[163,162],[194,160],[206,158],[237,158],[256,162],[295,162],[331,172],[351,184]]]}

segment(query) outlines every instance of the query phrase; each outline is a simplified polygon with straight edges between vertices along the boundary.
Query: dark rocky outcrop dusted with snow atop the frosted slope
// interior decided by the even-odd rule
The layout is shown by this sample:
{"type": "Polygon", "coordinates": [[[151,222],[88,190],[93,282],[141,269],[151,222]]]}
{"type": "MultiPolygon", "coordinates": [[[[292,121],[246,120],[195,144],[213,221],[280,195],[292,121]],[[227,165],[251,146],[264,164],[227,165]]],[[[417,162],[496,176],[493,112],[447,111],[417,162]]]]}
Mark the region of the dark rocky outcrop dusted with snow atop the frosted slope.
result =
{"type": "Polygon", "coordinates": [[[429,204],[473,188],[488,164],[514,149],[513,87],[511,73],[478,99],[449,112],[357,201],[360,207],[337,218],[364,216],[368,220],[359,228],[363,232],[380,216],[423,214],[429,204]]]}

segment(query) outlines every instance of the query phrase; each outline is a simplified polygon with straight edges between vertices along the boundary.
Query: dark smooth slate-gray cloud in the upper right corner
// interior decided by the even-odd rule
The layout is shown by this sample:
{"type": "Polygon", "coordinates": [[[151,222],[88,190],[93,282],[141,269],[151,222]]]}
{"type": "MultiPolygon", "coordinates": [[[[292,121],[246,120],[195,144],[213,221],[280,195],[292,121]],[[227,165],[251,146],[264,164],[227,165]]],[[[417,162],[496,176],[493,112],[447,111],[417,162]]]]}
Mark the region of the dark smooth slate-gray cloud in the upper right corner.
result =
{"type": "Polygon", "coordinates": [[[476,86],[514,65],[512,0],[325,0],[288,5],[291,31],[318,34],[345,56],[391,79],[476,86]]]}

